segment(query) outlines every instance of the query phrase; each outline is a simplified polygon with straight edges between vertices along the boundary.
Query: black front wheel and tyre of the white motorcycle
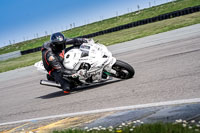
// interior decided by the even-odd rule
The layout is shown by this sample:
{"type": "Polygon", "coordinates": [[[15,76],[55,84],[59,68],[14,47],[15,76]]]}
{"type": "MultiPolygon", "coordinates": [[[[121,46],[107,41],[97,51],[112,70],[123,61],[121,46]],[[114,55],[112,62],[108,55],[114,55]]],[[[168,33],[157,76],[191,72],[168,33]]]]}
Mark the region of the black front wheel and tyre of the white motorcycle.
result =
{"type": "Polygon", "coordinates": [[[113,76],[120,79],[129,79],[132,78],[135,74],[135,70],[131,65],[120,60],[116,61],[112,69],[116,71],[116,74],[113,76]]]}

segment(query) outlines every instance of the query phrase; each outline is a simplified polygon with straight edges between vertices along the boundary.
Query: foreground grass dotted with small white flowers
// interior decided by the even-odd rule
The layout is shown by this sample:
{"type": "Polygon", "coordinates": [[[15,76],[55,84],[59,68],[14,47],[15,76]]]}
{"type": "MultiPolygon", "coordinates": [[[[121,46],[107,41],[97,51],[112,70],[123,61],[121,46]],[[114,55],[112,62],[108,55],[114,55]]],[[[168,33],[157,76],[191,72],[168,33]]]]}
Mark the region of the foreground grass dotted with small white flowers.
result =
{"type": "Polygon", "coordinates": [[[200,133],[199,130],[200,128],[194,124],[184,127],[183,124],[154,123],[137,126],[125,124],[116,128],[66,129],[63,131],[54,131],[53,133],[200,133]]]}

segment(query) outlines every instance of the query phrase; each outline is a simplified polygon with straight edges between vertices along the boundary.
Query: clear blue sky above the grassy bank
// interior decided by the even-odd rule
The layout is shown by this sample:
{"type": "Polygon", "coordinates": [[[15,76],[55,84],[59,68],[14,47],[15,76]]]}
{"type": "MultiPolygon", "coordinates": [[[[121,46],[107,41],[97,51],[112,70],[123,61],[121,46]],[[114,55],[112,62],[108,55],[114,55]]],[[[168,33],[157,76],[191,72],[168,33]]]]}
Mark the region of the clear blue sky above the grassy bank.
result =
{"type": "Polygon", "coordinates": [[[0,0],[0,47],[170,0],[0,0]]]}

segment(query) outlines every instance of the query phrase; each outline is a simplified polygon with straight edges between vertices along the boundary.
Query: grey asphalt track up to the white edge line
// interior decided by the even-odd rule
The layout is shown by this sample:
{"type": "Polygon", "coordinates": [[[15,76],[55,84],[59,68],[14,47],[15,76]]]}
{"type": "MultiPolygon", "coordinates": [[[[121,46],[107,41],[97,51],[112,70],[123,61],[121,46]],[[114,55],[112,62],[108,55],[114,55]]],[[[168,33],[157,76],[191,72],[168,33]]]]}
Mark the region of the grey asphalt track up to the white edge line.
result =
{"type": "Polygon", "coordinates": [[[33,67],[0,74],[0,123],[81,111],[200,98],[200,24],[109,47],[134,78],[65,95],[41,86],[33,67]]]}

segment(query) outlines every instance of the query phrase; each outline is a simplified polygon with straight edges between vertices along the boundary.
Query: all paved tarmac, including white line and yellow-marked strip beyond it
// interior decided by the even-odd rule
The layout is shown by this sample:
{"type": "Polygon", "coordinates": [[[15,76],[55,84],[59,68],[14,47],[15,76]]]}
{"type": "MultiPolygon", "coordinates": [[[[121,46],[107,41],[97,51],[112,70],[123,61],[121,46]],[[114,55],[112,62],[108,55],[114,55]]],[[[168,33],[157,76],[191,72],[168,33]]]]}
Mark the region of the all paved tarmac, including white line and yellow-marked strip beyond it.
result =
{"type": "Polygon", "coordinates": [[[144,123],[199,121],[199,40],[200,24],[197,24],[110,46],[114,56],[133,65],[135,78],[68,96],[55,88],[37,87],[34,83],[43,76],[36,74],[32,66],[1,73],[0,132],[107,127],[133,120],[144,123]],[[26,86],[34,89],[32,94],[29,95],[26,86]],[[105,102],[100,103],[103,99],[105,102]],[[62,106],[63,100],[71,101],[62,106]],[[91,100],[93,105],[89,104],[91,100]],[[33,112],[30,106],[34,106],[33,112]]]}

